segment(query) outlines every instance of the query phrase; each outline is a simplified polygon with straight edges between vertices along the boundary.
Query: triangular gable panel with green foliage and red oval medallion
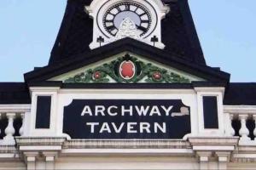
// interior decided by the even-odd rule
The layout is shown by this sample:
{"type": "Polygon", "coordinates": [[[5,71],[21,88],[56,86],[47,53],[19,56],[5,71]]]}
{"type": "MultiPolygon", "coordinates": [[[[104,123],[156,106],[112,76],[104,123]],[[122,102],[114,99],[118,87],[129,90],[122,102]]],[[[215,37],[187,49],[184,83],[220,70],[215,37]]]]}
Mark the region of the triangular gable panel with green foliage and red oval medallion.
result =
{"type": "Polygon", "coordinates": [[[124,52],[68,71],[60,76],[50,78],[49,81],[64,83],[189,83],[205,81],[205,79],[137,54],[124,52]]]}

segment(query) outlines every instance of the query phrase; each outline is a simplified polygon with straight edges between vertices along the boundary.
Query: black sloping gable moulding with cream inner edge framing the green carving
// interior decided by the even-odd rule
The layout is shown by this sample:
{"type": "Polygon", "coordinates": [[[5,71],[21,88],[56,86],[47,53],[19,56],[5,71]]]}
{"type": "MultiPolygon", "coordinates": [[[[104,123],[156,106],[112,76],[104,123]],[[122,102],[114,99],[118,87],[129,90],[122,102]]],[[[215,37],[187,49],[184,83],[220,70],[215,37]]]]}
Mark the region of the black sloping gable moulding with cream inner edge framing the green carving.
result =
{"type": "MultiPolygon", "coordinates": [[[[132,38],[123,38],[119,41],[97,48],[90,53],[70,57],[60,63],[45,66],[43,68],[27,72],[24,77],[26,82],[58,81],[65,82],[76,75],[95,70],[105,64],[110,64],[125,54],[137,58],[145,65],[151,64],[159,70],[165,70],[168,75],[177,74],[189,79],[190,82],[229,82],[230,74],[206,65],[195,65],[186,59],[179,59],[159,48],[154,48],[132,38]]],[[[117,75],[117,74],[116,74],[117,75]]],[[[119,75],[117,75],[119,76],[119,75]]],[[[109,82],[117,82],[109,77],[109,82]]],[[[138,82],[146,82],[144,77],[138,82]]],[[[85,82],[87,83],[87,82],[85,82]]]]}

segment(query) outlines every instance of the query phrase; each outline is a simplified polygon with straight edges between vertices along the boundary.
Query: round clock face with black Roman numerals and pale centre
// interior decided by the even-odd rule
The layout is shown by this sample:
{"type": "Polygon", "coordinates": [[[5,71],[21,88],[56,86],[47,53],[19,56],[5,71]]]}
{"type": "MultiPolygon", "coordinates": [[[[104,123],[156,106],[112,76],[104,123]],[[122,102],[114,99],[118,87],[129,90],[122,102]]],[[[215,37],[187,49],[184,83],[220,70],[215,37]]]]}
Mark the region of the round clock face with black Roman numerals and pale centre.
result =
{"type": "Polygon", "coordinates": [[[127,18],[134,22],[140,37],[150,29],[152,20],[148,9],[131,2],[117,3],[108,8],[103,17],[103,26],[110,35],[115,37],[122,21],[127,18]]]}

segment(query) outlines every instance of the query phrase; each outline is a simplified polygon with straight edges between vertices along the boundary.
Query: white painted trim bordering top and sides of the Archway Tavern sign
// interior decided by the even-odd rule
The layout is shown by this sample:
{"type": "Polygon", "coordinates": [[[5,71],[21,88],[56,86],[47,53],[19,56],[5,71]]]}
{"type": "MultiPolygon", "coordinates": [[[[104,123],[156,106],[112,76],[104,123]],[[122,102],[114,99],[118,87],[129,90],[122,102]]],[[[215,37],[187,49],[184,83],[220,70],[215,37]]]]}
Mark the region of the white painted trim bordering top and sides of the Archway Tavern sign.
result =
{"type": "MultiPolygon", "coordinates": [[[[194,90],[183,93],[183,89],[83,89],[73,93],[74,89],[61,89],[58,94],[58,109],[56,113],[56,126],[58,136],[63,136],[63,113],[64,106],[70,104],[73,99],[181,99],[184,105],[190,107],[191,133],[198,133],[198,122],[196,119],[197,105],[194,90]]],[[[75,89],[77,90],[77,89],[75,89]]],[[[80,89],[79,89],[80,90],[80,89]]]]}

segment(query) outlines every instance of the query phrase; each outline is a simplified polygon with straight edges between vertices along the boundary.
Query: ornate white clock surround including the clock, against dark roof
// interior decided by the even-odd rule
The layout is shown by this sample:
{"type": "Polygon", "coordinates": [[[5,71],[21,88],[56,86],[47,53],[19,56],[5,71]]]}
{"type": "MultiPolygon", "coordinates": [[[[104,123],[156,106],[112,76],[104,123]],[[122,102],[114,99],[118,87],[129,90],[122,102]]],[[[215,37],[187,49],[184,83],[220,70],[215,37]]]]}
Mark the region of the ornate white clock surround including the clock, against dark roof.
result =
{"type": "Polygon", "coordinates": [[[165,48],[161,42],[161,20],[170,7],[160,0],[94,0],[85,11],[94,23],[91,49],[124,37],[165,48]]]}

